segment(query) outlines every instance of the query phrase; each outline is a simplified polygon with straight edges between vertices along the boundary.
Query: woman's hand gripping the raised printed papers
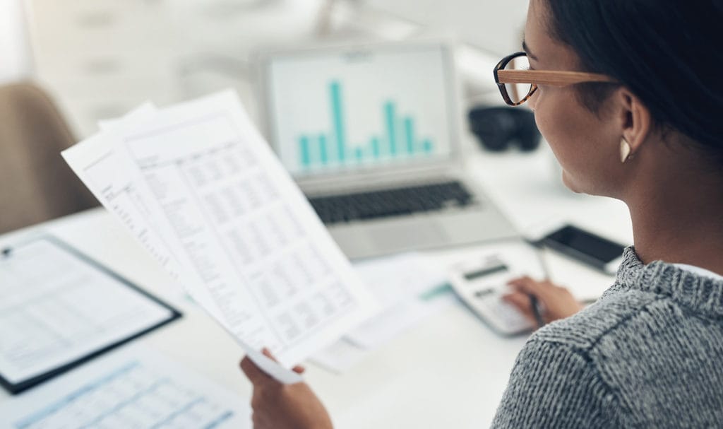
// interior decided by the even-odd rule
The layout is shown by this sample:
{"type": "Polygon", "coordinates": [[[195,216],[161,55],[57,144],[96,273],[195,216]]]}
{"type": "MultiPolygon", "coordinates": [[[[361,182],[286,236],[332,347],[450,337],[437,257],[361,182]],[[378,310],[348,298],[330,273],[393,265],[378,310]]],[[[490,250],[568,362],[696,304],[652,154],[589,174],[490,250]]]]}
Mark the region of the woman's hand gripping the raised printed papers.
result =
{"type": "MultiPolygon", "coordinates": [[[[264,349],[271,359],[271,353],[264,349]]],[[[254,385],[251,407],[256,429],[286,428],[332,428],[331,419],[324,405],[307,383],[282,384],[260,370],[248,357],[241,360],[241,370],[254,385]]],[[[304,368],[294,368],[303,373],[304,368]]]]}

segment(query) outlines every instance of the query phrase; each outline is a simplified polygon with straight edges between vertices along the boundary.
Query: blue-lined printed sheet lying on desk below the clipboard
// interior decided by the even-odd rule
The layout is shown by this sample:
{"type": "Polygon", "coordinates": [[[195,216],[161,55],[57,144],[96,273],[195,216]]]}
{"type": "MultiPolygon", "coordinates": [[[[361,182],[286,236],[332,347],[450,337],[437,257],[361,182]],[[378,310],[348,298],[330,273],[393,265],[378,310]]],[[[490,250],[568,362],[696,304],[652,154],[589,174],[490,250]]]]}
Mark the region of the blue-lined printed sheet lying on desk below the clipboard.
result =
{"type": "Polygon", "coordinates": [[[0,429],[251,428],[248,399],[130,347],[0,404],[0,429]]]}

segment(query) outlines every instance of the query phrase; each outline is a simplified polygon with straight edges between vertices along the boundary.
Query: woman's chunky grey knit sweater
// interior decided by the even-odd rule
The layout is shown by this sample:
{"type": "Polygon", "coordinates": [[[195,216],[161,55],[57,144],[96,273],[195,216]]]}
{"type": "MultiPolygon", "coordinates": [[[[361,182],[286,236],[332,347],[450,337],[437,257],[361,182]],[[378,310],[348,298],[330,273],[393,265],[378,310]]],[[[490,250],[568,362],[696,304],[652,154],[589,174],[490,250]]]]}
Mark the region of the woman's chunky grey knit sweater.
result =
{"type": "Polygon", "coordinates": [[[723,281],[625,250],[615,285],[531,336],[494,428],[723,428],[723,281]]]}

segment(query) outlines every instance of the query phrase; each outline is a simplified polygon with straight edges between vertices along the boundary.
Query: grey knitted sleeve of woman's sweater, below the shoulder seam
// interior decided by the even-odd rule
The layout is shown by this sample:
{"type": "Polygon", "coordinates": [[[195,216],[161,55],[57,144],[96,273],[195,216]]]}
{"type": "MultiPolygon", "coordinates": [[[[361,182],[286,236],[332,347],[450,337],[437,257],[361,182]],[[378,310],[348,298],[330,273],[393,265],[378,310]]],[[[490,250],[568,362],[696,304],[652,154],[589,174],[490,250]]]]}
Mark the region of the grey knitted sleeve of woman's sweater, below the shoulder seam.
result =
{"type": "Polygon", "coordinates": [[[532,339],[517,357],[492,428],[620,426],[615,395],[583,351],[532,339]]]}

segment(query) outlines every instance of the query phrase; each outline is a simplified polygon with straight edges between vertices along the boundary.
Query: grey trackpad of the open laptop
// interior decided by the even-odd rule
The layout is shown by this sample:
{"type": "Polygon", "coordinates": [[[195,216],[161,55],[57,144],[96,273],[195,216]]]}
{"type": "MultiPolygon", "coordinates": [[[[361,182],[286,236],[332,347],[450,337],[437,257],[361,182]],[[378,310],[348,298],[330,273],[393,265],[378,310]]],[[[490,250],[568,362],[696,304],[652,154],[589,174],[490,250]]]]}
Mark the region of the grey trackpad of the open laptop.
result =
{"type": "Polygon", "coordinates": [[[382,249],[414,248],[438,245],[446,241],[442,226],[436,221],[395,222],[369,228],[369,238],[382,249]]]}

